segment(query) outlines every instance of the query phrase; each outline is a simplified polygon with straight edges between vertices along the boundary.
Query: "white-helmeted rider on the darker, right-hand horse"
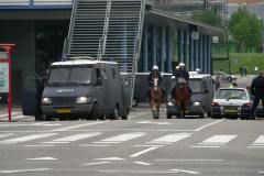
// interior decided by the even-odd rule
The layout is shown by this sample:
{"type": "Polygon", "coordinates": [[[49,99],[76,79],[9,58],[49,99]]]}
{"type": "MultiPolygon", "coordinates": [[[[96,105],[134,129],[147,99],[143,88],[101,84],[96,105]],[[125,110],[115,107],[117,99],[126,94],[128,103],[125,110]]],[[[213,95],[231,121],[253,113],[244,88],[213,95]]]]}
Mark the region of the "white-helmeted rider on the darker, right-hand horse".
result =
{"type": "MultiPolygon", "coordinates": [[[[184,63],[179,63],[179,65],[176,66],[176,69],[173,73],[173,76],[175,77],[176,84],[174,85],[174,88],[172,89],[172,98],[174,97],[174,92],[175,92],[175,89],[176,89],[178,82],[184,81],[188,87],[189,73],[186,70],[184,63]]],[[[189,87],[188,87],[188,89],[191,94],[191,90],[189,87]]]]}

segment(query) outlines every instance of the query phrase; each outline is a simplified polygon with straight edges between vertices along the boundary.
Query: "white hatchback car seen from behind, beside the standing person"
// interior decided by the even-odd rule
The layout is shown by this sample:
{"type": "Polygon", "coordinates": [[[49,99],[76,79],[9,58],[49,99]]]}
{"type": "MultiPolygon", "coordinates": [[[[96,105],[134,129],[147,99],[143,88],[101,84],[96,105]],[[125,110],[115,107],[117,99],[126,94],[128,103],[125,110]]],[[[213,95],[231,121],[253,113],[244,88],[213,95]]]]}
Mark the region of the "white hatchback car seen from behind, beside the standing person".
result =
{"type": "Polygon", "coordinates": [[[220,88],[211,102],[211,117],[250,119],[251,96],[245,88],[220,88]]]}

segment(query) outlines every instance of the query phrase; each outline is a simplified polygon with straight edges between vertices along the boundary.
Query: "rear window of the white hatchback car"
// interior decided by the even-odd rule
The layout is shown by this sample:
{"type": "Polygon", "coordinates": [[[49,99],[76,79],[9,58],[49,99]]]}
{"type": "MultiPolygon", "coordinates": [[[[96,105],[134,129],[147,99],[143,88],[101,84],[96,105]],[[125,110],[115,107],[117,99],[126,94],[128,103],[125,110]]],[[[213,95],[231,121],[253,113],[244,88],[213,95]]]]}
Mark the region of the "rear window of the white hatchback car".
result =
{"type": "Polygon", "coordinates": [[[240,89],[220,89],[217,99],[248,99],[245,90],[240,89]]]}

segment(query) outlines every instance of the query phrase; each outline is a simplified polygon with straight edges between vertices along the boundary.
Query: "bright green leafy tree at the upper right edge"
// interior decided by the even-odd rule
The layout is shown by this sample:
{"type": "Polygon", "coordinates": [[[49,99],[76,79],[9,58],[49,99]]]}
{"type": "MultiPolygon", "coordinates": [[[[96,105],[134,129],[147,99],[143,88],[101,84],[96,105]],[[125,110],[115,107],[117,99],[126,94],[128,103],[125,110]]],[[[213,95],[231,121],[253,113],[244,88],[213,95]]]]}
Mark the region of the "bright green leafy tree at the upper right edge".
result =
{"type": "Polygon", "coordinates": [[[245,7],[239,8],[231,15],[229,31],[238,41],[240,53],[244,51],[244,46],[260,48],[263,22],[255,14],[251,14],[245,7]]]}

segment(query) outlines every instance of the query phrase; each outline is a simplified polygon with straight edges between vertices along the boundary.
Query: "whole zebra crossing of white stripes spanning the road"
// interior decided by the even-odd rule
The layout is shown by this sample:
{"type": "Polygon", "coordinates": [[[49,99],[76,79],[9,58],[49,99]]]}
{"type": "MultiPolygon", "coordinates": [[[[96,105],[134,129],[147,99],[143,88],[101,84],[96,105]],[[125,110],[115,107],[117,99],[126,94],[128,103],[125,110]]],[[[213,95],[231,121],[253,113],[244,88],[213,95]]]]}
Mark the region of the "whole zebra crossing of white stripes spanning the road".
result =
{"type": "MultiPolygon", "coordinates": [[[[65,133],[59,132],[45,132],[45,133],[37,133],[37,134],[28,134],[21,135],[21,133],[0,133],[0,147],[1,145],[8,144],[21,144],[24,146],[37,146],[37,144],[67,144],[67,143],[75,143],[78,142],[79,146],[111,146],[125,143],[129,141],[136,141],[138,139],[144,138],[143,141],[140,140],[140,144],[136,145],[147,145],[147,146],[155,146],[155,145],[173,145],[185,141],[186,139],[193,138],[191,133],[172,133],[172,134],[162,134],[162,136],[152,139],[152,133],[146,132],[130,132],[123,134],[117,134],[113,136],[106,136],[109,135],[106,132],[89,132],[89,133],[79,133],[79,134],[70,134],[65,136],[65,133]],[[64,135],[64,136],[59,136],[64,135]],[[151,138],[150,138],[150,136],[151,138]],[[52,138],[52,139],[50,139],[52,138]],[[96,139],[95,139],[96,138],[96,139]],[[98,140],[99,139],[99,140],[98,140]],[[40,141],[41,140],[41,141],[40,141]],[[32,142],[36,145],[25,145],[32,142]]],[[[223,147],[229,145],[232,141],[235,141],[239,138],[243,138],[242,135],[211,135],[207,136],[200,142],[196,142],[189,147],[223,147]]],[[[195,138],[194,138],[195,139],[195,138]]],[[[135,142],[136,143],[136,142],[135,142]]],[[[136,146],[135,145],[135,146],[136,146]]],[[[53,146],[53,145],[46,145],[53,146]]],[[[244,145],[248,148],[264,148],[264,134],[255,136],[252,139],[252,143],[244,145]]]]}

